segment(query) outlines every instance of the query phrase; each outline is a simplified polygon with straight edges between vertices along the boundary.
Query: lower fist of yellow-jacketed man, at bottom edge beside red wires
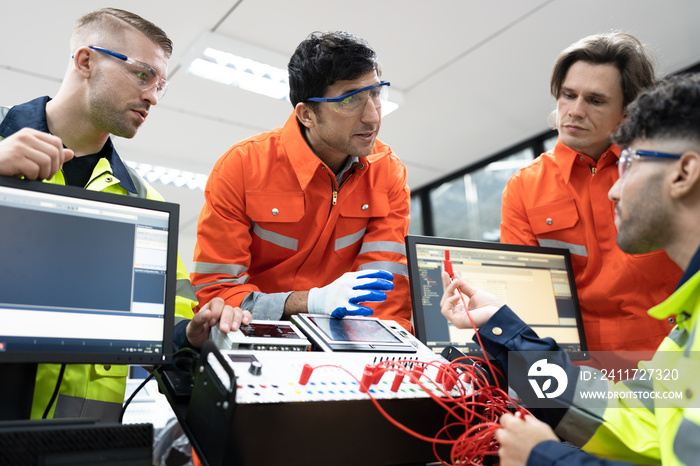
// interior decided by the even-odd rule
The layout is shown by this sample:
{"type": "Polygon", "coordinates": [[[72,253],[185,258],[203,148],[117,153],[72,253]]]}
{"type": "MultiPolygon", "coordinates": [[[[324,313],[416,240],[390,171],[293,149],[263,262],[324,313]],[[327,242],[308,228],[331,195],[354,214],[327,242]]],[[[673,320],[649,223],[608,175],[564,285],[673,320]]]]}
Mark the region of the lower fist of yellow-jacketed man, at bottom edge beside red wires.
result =
{"type": "Polygon", "coordinates": [[[504,414],[500,422],[503,428],[496,431],[495,438],[501,444],[498,449],[501,466],[524,466],[535,445],[559,440],[551,427],[529,414],[525,419],[504,414]]]}

